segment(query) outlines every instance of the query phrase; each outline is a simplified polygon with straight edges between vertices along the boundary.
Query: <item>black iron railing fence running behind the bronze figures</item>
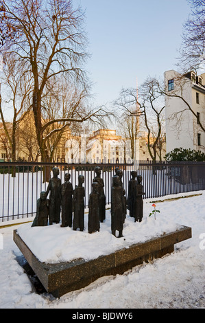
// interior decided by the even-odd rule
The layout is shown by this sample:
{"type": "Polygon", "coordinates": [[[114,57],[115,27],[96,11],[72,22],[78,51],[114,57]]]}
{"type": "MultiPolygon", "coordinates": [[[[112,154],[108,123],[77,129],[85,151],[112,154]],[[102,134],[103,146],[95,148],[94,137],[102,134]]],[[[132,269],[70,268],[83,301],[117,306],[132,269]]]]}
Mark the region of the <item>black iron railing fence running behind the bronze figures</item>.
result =
{"type": "Polygon", "coordinates": [[[127,195],[132,170],[137,170],[138,175],[143,177],[144,199],[205,190],[205,162],[138,161],[136,164],[1,162],[0,222],[36,215],[36,201],[40,197],[40,192],[47,190],[53,166],[59,168],[62,183],[64,174],[66,172],[71,174],[73,188],[78,183],[78,175],[84,175],[86,208],[96,166],[101,167],[107,204],[111,201],[112,177],[117,166],[123,170],[123,186],[127,195]]]}

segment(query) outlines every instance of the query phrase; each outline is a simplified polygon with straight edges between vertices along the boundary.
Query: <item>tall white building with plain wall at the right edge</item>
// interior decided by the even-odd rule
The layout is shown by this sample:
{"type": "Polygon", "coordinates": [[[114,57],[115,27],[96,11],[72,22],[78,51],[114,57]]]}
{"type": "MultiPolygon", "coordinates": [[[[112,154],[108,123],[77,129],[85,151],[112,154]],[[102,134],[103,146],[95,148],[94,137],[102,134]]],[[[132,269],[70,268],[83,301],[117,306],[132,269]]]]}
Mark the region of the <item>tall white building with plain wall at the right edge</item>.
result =
{"type": "Polygon", "coordinates": [[[164,75],[167,153],[180,147],[205,152],[205,73],[164,75]]]}

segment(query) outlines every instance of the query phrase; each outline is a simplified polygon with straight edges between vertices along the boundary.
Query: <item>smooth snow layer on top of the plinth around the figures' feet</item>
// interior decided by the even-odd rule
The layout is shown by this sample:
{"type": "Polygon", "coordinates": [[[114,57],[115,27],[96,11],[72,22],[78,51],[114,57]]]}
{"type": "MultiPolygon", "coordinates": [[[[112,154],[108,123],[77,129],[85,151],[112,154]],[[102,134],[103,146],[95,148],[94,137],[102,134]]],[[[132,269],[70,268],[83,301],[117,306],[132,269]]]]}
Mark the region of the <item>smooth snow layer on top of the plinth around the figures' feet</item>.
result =
{"type": "Polygon", "coordinates": [[[134,218],[127,215],[123,237],[116,238],[111,234],[110,210],[106,210],[106,221],[100,223],[99,232],[89,234],[87,223],[86,213],[83,232],[73,231],[71,227],[60,227],[60,223],[46,227],[32,227],[32,223],[26,223],[19,227],[17,233],[40,262],[52,264],[79,258],[92,260],[128,248],[134,243],[143,243],[162,234],[180,230],[182,227],[161,213],[157,214],[155,220],[154,215],[149,216],[147,212],[141,223],[134,222],[134,218]]]}

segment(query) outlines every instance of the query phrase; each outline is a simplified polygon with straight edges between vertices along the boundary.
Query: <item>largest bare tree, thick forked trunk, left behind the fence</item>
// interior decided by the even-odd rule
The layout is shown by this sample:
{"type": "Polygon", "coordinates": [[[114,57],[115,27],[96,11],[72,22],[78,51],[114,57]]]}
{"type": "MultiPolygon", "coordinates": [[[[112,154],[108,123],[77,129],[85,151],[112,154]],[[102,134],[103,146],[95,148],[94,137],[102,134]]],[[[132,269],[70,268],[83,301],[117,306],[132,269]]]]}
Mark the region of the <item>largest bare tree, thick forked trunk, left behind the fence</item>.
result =
{"type": "Polygon", "coordinates": [[[71,0],[1,0],[0,3],[2,52],[13,53],[24,73],[32,77],[31,107],[36,138],[40,155],[47,161],[50,150],[47,145],[54,133],[60,133],[71,122],[99,120],[106,115],[101,107],[79,110],[76,106],[70,115],[45,118],[44,99],[52,94],[51,85],[57,77],[73,82],[80,89],[80,101],[87,89],[88,80],[82,69],[88,57],[82,25],[84,15],[81,8],[73,9],[71,0]]]}

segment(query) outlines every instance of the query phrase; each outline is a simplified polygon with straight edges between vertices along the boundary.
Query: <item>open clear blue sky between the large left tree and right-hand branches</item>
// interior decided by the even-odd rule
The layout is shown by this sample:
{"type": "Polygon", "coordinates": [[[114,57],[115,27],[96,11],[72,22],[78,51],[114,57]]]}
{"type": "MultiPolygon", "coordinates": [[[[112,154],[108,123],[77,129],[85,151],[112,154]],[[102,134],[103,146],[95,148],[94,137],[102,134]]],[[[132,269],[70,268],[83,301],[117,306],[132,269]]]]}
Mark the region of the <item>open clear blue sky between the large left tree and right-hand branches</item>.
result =
{"type": "Polygon", "coordinates": [[[73,0],[86,10],[95,104],[117,99],[122,87],[176,69],[186,0],[73,0]]]}

